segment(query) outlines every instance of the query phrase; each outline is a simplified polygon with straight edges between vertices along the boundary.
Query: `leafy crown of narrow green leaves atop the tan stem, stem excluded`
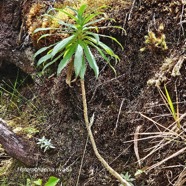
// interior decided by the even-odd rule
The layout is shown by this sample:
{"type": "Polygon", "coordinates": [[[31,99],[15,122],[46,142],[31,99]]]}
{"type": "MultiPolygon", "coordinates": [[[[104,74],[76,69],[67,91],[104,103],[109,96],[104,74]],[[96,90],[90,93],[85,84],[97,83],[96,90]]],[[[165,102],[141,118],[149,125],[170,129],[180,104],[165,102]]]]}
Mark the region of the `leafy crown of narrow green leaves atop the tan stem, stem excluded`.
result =
{"type": "MultiPolygon", "coordinates": [[[[68,63],[71,62],[71,59],[73,58],[72,63],[74,66],[76,77],[79,76],[81,79],[84,79],[86,72],[86,61],[88,62],[89,66],[94,70],[95,76],[98,77],[99,67],[91,49],[96,49],[100,56],[110,65],[110,60],[108,56],[111,56],[115,60],[119,60],[119,57],[113,52],[113,50],[109,46],[100,41],[100,37],[109,38],[118,43],[121,47],[122,45],[114,37],[98,33],[100,28],[105,27],[99,27],[97,26],[97,24],[108,19],[104,17],[103,12],[92,12],[86,14],[87,5],[82,5],[79,10],[75,10],[70,7],[69,9],[71,9],[73,13],[69,13],[63,9],[55,8],[52,10],[63,12],[64,14],[69,16],[73,24],[65,23],[64,21],[59,19],[58,23],[61,25],[60,28],[38,28],[34,31],[34,33],[36,33],[40,31],[43,32],[45,30],[57,29],[58,34],[68,35],[62,41],[58,41],[55,44],[43,47],[38,50],[35,53],[34,57],[37,57],[39,54],[42,54],[46,51],[48,52],[38,60],[37,65],[39,66],[41,64],[44,64],[43,70],[45,70],[53,63],[59,61],[57,74],[60,74],[61,71],[67,66],[68,63]],[[96,19],[96,17],[99,18],[96,19]],[[94,31],[96,31],[97,33],[95,33],[94,31]]],[[[103,9],[103,7],[101,7],[100,9],[103,9]]],[[[56,17],[52,15],[52,10],[50,10],[45,16],[56,20],[56,17]]],[[[121,27],[117,26],[111,27],[122,29],[121,27]]],[[[49,37],[51,35],[52,34],[44,34],[39,38],[39,40],[45,37],[49,37]]]]}

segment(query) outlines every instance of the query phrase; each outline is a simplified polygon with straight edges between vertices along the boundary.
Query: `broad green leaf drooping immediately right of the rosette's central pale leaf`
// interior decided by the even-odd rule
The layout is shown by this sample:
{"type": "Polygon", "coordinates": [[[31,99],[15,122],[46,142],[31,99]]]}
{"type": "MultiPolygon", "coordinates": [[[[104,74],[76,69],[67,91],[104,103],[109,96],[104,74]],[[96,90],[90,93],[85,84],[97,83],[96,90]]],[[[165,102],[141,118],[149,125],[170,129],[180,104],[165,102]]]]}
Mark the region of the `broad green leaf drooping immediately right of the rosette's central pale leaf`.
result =
{"type": "Polygon", "coordinates": [[[89,65],[90,65],[90,67],[94,70],[95,76],[98,77],[99,67],[96,63],[94,55],[92,54],[90,48],[86,44],[83,45],[83,48],[84,48],[84,51],[85,51],[86,59],[87,59],[89,65]]]}

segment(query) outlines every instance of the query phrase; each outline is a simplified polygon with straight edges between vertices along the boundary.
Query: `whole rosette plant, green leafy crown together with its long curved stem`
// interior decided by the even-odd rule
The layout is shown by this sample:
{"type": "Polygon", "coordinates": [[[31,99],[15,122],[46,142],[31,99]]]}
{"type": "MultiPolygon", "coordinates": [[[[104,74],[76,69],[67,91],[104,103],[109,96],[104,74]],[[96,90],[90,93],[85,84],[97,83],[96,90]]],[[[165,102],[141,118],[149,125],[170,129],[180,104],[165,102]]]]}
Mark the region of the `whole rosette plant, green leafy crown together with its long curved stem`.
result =
{"type": "Polygon", "coordinates": [[[92,121],[89,121],[88,118],[88,109],[87,109],[87,101],[86,101],[86,92],[85,92],[85,73],[87,64],[93,69],[96,78],[99,75],[99,67],[97,65],[96,59],[94,57],[94,53],[92,49],[94,48],[100,54],[100,56],[111,66],[111,68],[115,71],[113,66],[110,64],[109,59],[113,58],[116,61],[119,60],[119,57],[114,53],[114,51],[105,43],[100,40],[100,37],[109,38],[112,41],[116,42],[119,46],[122,45],[118,42],[118,40],[112,36],[99,34],[99,29],[105,28],[119,28],[118,26],[98,26],[100,22],[107,20],[105,14],[101,11],[103,7],[98,8],[96,11],[88,12],[87,5],[82,5],[78,10],[73,9],[71,7],[67,7],[67,9],[52,9],[44,16],[49,17],[51,19],[55,19],[59,27],[56,28],[37,28],[34,32],[43,32],[43,31],[51,31],[51,33],[43,34],[40,39],[45,37],[61,34],[61,36],[65,36],[64,39],[58,41],[52,45],[43,47],[39,49],[34,57],[36,58],[38,55],[45,53],[37,62],[37,65],[43,64],[43,70],[52,65],[53,63],[58,62],[57,74],[59,75],[61,71],[68,65],[67,71],[67,83],[70,84],[72,72],[75,72],[76,79],[79,77],[81,82],[82,89],[82,100],[83,100],[83,108],[84,108],[84,120],[86,124],[86,128],[88,131],[88,135],[90,137],[93,150],[97,158],[101,161],[104,167],[115,176],[122,184],[129,186],[130,184],[124,180],[120,174],[118,174],[115,170],[113,170],[108,163],[102,158],[99,154],[94,137],[91,131],[92,121]],[[56,19],[55,12],[62,12],[66,16],[69,17],[69,22],[67,23],[62,19],[56,19]],[[55,32],[53,32],[55,30],[55,32]],[[46,53],[47,52],[47,53],[46,53]]]}

